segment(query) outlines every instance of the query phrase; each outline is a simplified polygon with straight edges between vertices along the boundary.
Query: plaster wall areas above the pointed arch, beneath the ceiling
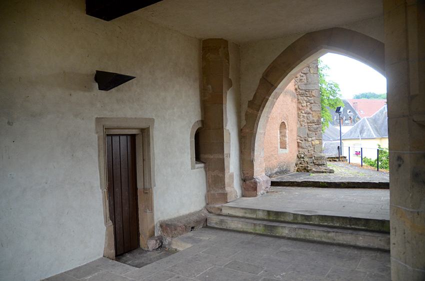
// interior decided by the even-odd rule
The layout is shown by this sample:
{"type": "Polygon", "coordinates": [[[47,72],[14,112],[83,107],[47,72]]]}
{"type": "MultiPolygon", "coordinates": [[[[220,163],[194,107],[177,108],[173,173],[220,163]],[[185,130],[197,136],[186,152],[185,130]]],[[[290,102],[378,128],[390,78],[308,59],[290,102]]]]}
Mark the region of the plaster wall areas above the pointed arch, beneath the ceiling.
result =
{"type": "MultiPolygon", "coordinates": [[[[361,20],[342,26],[383,42],[382,17],[361,20]]],[[[261,40],[240,46],[240,114],[241,127],[245,124],[245,111],[252,99],[262,73],[270,63],[291,43],[305,33],[286,37],[261,40]]]]}

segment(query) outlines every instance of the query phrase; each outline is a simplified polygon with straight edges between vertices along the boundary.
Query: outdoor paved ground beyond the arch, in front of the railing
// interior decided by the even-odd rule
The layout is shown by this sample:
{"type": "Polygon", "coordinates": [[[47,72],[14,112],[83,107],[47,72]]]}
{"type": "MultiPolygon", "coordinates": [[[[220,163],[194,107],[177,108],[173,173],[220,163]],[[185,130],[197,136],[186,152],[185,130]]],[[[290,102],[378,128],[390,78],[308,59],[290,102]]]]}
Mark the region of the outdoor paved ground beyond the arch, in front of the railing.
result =
{"type": "Polygon", "coordinates": [[[356,164],[345,162],[329,162],[327,166],[334,170],[332,174],[288,173],[272,177],[272,181],[325,181],[325,182],[389,182],[389,174],[384,171],[376,171],[361,168],[356,164]]]}

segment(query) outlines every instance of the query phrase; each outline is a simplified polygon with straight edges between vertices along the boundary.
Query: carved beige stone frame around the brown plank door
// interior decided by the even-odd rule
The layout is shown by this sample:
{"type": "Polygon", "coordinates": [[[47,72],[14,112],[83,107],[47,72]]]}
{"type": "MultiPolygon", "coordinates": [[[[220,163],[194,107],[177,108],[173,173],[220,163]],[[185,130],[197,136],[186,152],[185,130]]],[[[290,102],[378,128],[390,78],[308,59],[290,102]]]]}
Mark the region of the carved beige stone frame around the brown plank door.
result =
{"type": "Polygon", "coordinates": [[[136,148],[136,187],[140,248],[147,248],[147,239],[155,234],[153,216],[154,153],[153,118],[107,118],[95,119],[99,161],[100,190],[102,192],[105,244],[103,256],[115,259],[112,222],[109,218],[106,177],[106,134],[134,134],[136,148]]]}

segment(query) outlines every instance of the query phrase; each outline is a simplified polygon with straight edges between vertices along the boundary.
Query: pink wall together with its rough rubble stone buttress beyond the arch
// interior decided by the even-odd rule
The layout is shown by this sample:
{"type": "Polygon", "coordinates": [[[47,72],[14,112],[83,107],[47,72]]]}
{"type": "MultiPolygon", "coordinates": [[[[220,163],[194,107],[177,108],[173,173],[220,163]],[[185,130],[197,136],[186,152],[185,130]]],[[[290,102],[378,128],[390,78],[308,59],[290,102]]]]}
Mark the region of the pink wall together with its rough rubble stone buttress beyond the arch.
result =
{"type": "Polygon", "coordinates": [[[317,61],[299,72],[277,98],[264,136],[266,176],[288,172],[330,172],[322,154],[317,61]],[[287,126],[287,149],[280,149],[279,126],[287,126]]]}

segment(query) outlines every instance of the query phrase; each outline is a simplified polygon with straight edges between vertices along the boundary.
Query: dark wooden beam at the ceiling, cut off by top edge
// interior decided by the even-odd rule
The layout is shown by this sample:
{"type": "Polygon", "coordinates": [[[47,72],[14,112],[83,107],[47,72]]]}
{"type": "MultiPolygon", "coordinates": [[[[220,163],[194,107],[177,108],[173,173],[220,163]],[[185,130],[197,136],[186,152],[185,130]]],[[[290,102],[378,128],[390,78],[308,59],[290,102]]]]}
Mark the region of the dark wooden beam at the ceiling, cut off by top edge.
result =
{"type": "Polygon", "coordinates": [[[109,21],[157,2],[160,0],[85,0],[85,13],[109,21]]]}

